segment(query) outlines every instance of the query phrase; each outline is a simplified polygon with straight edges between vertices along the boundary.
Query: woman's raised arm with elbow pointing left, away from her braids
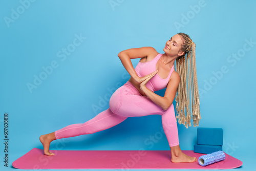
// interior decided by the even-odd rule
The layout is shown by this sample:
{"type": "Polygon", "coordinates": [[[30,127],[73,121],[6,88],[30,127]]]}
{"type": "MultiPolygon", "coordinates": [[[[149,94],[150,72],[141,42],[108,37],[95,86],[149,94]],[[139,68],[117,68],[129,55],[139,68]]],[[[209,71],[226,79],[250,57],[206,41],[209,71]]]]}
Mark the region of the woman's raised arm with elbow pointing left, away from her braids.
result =
{"type": "Polygon", "coordinates": [[[143,58],[143,57],[147,57],[155,54],[157,55],[158,53],[154,48],[142,47],[142,48],[133,48],[133,49],[127,49],[127,50],[121,51],[118,54],[118,57],[120,58],[125,70],[131,75],[131,77],[134,78],[135,81],[140,83],[144,79],[140,79],[140,77],[137,75],[131,59],[143,58]]]}

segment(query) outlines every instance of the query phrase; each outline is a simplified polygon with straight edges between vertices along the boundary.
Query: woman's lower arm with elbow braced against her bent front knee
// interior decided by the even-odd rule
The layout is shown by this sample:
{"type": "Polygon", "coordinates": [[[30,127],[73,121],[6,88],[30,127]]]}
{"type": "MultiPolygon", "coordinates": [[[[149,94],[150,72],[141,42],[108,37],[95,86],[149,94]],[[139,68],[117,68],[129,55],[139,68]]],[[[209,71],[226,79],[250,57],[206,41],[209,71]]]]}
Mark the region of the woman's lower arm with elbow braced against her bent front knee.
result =
{"type": "MultiPolygon", "coordinates": [[[[153,72],[154,73],[154,72],[153,72]]],[[[156,73],[155,73],[156,74],[156,73]]],[[[170,81],[167,84],[164,96],[159,96],[156,93],[152,92],[150,89],[146,88],[146,83],[150,80],[155,74],[151,77],[145,79],[140,83],[140,89],[145,93],[147,97],[149,97],[153,102],[159,105],[163,110],[167,110],[170,105],[172,105],[177,88],[180,83],[180,76],[177,72],[173,72],[170,81]]]]}

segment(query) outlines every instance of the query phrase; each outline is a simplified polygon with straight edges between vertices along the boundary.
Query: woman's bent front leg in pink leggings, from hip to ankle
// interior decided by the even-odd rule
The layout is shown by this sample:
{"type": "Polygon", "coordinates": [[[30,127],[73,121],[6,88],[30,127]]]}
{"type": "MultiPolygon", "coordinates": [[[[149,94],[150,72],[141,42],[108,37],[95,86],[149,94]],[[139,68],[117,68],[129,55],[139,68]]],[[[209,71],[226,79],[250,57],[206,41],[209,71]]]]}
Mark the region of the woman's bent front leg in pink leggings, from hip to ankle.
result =
{"type": "Polygon", "coordinates": [[[131,82],[127,81],[111,96],[110,110],[123,117],[161,115],[169,146],[179,145],[174,105],[170,105],[166,111],[163,110],[150,98],[141,96],[131,82]]]}

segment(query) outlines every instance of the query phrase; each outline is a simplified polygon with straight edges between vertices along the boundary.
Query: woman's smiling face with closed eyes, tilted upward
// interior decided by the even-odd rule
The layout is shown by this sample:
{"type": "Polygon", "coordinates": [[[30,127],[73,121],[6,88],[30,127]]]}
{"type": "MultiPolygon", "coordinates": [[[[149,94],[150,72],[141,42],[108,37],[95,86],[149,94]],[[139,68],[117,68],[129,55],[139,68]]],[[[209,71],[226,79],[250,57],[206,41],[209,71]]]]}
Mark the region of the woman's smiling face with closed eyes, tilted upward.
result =
{"type": "Polygon", "coordinates": [[[177,56],[177,57],[181,56],[184,54],[184,52],[180,51],[182,44],[183,44],[183,41],[181,39],[181,36],[178,34],[175,34],[168,41],[166,41],[163,51],[169,56],[177,56]]]}

